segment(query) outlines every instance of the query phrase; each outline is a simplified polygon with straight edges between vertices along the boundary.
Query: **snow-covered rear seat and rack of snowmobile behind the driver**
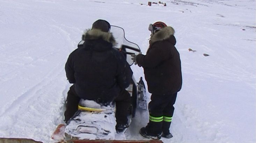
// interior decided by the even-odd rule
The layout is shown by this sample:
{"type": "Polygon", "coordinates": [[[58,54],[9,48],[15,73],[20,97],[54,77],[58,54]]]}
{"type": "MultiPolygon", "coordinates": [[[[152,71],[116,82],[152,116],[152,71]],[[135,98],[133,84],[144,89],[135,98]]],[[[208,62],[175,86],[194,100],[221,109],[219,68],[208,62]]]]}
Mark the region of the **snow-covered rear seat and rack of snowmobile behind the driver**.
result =
{"type": "Polygon", "coordinates": [[[92,100],[81,99],[78,111],[68,120],[66,140],[114,140],[115,105],[101,106],[92,100]]]}

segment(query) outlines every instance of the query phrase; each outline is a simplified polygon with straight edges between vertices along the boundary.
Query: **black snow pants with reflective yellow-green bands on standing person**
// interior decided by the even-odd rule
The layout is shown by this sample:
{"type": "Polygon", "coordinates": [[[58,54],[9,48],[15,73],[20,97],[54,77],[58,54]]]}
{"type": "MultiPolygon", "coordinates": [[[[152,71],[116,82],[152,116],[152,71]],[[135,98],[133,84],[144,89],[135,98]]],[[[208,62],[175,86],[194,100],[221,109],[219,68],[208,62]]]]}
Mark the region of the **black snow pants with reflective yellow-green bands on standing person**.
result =
{"type": "Polygon", "coordinates": [[[171,120],[174,113],[174,103],[177,93],[169,93],[164,95],[152,94],[151,101],[148,104],[149,123],[146,126],[146,131],[153,135],[161,134],[162,132],[169,133],[171,120]]]}

